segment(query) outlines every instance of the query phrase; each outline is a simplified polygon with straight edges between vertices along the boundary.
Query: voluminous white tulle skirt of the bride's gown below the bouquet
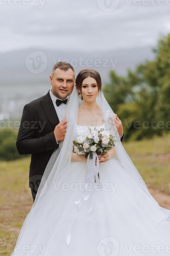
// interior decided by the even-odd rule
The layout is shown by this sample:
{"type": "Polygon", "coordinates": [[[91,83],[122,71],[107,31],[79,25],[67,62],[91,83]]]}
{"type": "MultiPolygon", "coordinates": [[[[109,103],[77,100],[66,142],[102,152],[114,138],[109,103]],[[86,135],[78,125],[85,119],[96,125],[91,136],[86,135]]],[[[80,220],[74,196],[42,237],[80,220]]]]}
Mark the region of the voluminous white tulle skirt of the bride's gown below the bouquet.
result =
{"type": "Polygon", "coordinates": [[[99,165],[102,188],[96,187],[81,204],[77,202],[83,194],[86,164],[71,162],[69,175],[69,184],[60,187],[66,198],[72,191],[67,203],[62,198],[56,202],[51,194],[47,218],[42,219],[40,212],[35,223],[28,223],[30,229],[23,231],[12,255],[170,255],[170,211],[140,187],[134,190],[116,159],[99,165]]]}

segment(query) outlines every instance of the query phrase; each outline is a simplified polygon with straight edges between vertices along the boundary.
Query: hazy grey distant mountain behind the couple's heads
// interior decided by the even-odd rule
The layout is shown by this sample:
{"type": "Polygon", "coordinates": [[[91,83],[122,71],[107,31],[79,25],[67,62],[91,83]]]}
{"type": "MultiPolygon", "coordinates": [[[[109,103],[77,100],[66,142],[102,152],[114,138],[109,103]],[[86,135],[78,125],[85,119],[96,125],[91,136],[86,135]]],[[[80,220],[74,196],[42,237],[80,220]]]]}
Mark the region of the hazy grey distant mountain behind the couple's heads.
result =
{"type": "MultiPolygon", "coordinates": [[[[0,83],[41,84],[49,83],[49,75],[55,62],[68,59],[73,61],[75,73],[88,67],[95,68],[102,77],[102,83],[109,82],[109,71],[114,69],[119,75],[127,74],[127,69],[154,59],[152,47],[118,49],[106,51],[64,51],[30,48],[0,54],[0,83]]],[[[1,87],[2,88],[2,87],[1,87]]]]}

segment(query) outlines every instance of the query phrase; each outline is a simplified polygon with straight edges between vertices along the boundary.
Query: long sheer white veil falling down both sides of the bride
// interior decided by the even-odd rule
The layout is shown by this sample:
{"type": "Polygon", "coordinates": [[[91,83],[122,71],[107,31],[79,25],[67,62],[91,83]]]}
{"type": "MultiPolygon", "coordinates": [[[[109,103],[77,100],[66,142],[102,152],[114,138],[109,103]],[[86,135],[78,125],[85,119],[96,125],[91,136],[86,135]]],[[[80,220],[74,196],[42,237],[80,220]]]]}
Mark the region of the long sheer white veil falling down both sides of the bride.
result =
{"type": "MultiPolygon", "coordinates": [[[[96,102],[100,107],[103,120],[107,124],[107,129],[117,140],[115,143],[116,159],[126,173],[127,182],[131,185],[134,200],[148,218],[166,228],[170,221],[170,210],[160,207],[154,200],[145,182],[123,148],[113,119],[115,114],[102,92],[101,97],[96,98],[96,102]],[[151,204],[152,207],[150,207],[151,204]]],[[[34,204],[26,216],[19,233],[16,249],[18,248],[17,246],[21,248],[26,241],[28,244],[37,244],[39,241],[42,244],[47,244],[48,240],[50,240],[49,234],[54,232],[55,226],[57,225],[57,230],[60,229],[64,210],[67,207],[71,195],[74,193],[71,189],[69,191],[61,189],[61,186],[62,184],[69,184],[71,154],[80,104],[81,102],[74,86],[73,92],[67,101],[66,136],[63,142],[59,142],[59,148],[53,152],[48,162],[34,204]]],[[[75,204],[75,209],[76,207],[77,205],[75,204]]],[[[14,252],[11,255],[15,255],[14,252]]],[[[28,254],[22,252],[19,255],[28,254]]]]}

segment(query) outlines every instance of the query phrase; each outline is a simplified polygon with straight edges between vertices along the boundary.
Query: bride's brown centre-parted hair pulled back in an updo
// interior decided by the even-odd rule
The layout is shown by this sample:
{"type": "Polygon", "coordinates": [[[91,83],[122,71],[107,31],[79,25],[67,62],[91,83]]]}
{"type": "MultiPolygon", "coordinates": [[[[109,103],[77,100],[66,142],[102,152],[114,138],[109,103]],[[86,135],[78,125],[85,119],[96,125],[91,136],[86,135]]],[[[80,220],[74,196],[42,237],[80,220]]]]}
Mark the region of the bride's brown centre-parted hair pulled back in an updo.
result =
{"type": "MultiPolygon", "coordinates": [[[[77,91],[78,89],[80,90],[80,93],[78,92],[79,95],[81,94],[81,91],[82,91],[83,80],[86,79],[87,77],[92,77],[96,80],[98,91],[101,96],[101,89],[102,89],[101,77],[99,72],[97,72],[95,69],[92,69],[92,68],[82,69],[76,77],[75,86],[77,91]]],[[[81,99],[83,100],[82,96],[81,96],[81,99]]]]}

